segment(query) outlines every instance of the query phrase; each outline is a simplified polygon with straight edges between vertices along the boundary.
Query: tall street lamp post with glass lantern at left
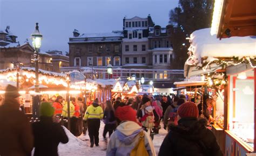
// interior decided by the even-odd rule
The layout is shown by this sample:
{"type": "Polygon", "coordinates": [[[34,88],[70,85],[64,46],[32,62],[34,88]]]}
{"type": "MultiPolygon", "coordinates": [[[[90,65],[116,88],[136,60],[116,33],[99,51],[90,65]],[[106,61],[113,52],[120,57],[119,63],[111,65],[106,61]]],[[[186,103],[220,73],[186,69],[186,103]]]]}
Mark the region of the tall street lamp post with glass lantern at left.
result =
{"type": "Polygon", "coordinates": [[[39,32],[38,29],[38,23],[36,23],[36,29],[31,34],[32,39],[32,46],[35,48],[34,53],[34,60],[35,60],[35,73],[36,73],[36,84],[35,84],[35,92],[37,93],[35,97],[33,97],[33,117],[39,117],[39,114],[37,113],[39,111],[39,105],[40,105],[40,98],[39,98],[39,81],[38,81],[38,59],[39,59],[39,53],[38,50],[41,47],[41,40],[43,38],[43,35],[39,32]]]}

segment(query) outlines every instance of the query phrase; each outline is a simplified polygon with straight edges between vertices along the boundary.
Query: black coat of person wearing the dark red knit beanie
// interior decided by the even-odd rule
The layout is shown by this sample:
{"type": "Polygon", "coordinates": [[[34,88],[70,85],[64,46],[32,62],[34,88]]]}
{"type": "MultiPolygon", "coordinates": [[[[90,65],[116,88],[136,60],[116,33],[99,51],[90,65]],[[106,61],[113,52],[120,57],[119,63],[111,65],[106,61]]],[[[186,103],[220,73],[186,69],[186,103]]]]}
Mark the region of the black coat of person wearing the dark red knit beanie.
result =
{"type": "Polygon", "coordinates": [[[159,150],[159,156],[222,156],[212,131],[205,119],[183,118],[178,126],[170,125],[159,150]]]}

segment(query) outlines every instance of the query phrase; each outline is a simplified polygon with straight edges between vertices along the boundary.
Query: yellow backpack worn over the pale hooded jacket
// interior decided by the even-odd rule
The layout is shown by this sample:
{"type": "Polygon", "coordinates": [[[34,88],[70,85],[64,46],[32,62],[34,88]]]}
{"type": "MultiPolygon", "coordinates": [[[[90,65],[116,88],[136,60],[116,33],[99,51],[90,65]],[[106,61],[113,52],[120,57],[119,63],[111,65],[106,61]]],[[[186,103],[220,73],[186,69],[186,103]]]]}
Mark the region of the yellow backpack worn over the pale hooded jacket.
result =
{"type": "Polygon", "coordinates": [[[147,149],[145,147],[145,134],[143,131],[139,133],[138,144],[132,149],[130,156],[149,156],[147,149]]]}

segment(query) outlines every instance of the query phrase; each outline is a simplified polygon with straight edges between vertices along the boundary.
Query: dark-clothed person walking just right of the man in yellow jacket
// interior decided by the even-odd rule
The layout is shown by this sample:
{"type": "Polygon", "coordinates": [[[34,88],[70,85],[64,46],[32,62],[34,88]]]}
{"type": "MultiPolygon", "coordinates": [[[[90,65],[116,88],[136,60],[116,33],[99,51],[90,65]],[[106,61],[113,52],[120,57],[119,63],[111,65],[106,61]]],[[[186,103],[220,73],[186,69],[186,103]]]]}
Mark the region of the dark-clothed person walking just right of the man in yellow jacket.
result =
{"type": "Polygon", "coordinates": [[[116,117],[114,116],[114,108],[110,100],[106,101],[106,108],[104,110],[103,121],[105,123],[104,131],[103,131],[103,138],[105,143],[104,150],[106,150],[107,148],[106,133],[109,132],[109,138],[110,138],[111,134],[116,129],[116,124],[117,124],[116,117]]]}

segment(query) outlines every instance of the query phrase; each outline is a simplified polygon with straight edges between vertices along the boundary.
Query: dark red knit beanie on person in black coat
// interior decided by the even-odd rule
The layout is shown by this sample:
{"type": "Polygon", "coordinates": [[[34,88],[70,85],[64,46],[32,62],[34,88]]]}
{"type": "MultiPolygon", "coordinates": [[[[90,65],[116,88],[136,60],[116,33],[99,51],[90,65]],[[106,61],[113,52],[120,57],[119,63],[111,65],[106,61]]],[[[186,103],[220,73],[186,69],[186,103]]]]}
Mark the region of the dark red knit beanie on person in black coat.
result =
{"type": "Polygon", "coordinates": [[[180,118],[186,118],[186,117],[198,117],[198,108],[197,105],[193,102],[186,102],[185,104],[182,104],[178,108],[178,115],[180,118]]]}

